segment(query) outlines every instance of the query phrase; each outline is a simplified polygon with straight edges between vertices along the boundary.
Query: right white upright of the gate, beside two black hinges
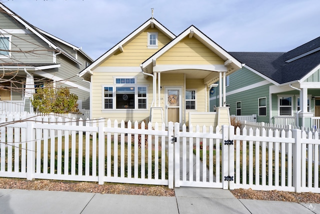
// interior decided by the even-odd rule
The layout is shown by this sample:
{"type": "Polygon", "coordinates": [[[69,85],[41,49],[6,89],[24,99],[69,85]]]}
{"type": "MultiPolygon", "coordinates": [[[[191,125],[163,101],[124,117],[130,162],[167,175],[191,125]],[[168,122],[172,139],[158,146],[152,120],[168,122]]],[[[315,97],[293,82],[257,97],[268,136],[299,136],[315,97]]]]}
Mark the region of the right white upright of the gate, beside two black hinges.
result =
{"type": "Polygon", "coordinates": [[[222,157],[221,157],[221,173],[222,173],[222,188],[228,188],[228,180],[225,179],[225,176],[228,175],[228,145],[224,144],[224,140],[228,140],[228,125],[222,125],[222,141],[221,141],[221,148],[222,148],[222,157]]]}

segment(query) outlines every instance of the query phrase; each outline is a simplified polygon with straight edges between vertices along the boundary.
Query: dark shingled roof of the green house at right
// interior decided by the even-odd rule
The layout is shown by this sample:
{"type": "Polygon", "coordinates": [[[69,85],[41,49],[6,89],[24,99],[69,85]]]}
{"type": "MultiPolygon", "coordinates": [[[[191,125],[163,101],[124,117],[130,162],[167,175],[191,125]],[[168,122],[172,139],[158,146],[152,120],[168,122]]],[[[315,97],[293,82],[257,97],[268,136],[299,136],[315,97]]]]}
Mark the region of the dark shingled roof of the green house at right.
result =
{"type": "Polygon", "coordinates": [[[302,80],[319,69],[320,37],[288,52],[229,53],[277,84],[288,84],[302,80]]]}

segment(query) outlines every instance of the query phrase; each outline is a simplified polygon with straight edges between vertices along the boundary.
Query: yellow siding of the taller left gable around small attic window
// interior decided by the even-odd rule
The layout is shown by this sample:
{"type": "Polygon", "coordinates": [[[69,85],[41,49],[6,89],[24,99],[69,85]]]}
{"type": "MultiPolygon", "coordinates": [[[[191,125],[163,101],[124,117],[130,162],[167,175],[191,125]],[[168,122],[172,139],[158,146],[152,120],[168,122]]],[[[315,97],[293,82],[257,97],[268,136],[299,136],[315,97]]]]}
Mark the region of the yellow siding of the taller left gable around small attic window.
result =
{"type": "Polygon", "coordinates": [[[101,66],[139,66],[143,61],[170,42],[165,34],[156,28],[148,28],[123,45],[123,52],[117,51],[101,66]],[[158,48],[147,48],[147,32],[158,32],[158,48]]]}

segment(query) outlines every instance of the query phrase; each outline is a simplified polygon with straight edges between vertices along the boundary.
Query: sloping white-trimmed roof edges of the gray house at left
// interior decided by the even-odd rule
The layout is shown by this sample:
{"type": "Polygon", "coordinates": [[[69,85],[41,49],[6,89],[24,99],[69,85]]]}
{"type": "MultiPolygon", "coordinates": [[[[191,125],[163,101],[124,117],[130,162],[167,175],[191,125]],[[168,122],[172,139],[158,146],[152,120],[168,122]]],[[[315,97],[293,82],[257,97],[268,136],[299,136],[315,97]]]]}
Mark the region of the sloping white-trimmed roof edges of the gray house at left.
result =
{"type": "MultiPolygon", "coordinates": [[[[53,48],[55,51],[61,52],[63,55],[65,55],[66,57],[68,57],[69,59],[71,59],[72,61],[81,64],[80,61],[78,61],[75,57],[73,57],[71,54],[69,54],[67,51],[65,51],[62,47],[58,46],[54,41],[52,41],[49,37],[56,39],[56,37],[54,37],[53,35],[50,35],[49,33],[44,33],[43,30],[38,29],[37,27],[33,26],[32,24],[30,24],[29,22],[27,22],[26,20],[24,20],[23,18],[21,18],[19,15],[17,15],[15,12],[13,12],[12,10],[10,10],[8,7],[6,7],[4,4],[0,3],[0,7],[7,12],[8,15],[10,15],[12,18],[14,18],[16,21],[18,21],[19,23],[21,23],[25,28],[27,28],[28,30],[30,30],[31,32],[33,32],[34,34],[36,34],[39,38],[41,38],[44,42],[46,42],[48,44],[49,47],[53,48]],[[50,35],[48,37],[48,35],[50,35]]],[[[58,40],[58,38],[56,39],[58,40]]],[[[61,39],[60,39],[61,40],[61,39]]],[[[70,46],[71,48],[75,47],[72,44],[69,44],[67,42],[62,42],[64,44],[66,44],[67,46],[70,46]]],[[[79,49],[79,48],[77,48],[79,49]]],[[[85,54],[86,55],[86,54],[85,54]]],[[[87,55],[86,55],[87,56],[87,55]]],[[[89,59],[91,59],[90,57],[88,57],[89,59]]]]}

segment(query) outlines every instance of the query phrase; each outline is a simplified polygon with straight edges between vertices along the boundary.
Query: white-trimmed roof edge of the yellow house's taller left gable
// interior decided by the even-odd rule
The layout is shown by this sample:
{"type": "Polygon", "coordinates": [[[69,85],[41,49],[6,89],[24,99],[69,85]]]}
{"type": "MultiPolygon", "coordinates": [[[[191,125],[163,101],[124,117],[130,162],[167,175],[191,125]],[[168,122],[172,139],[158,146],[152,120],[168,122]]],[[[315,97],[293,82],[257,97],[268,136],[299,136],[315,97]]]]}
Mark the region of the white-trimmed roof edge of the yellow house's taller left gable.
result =
{"type": "Polygon", "coordinates": [[[130,41],[133,37],[135,37],[140,32],[144,31],[148,27],[156,27],[161,32],[163,32],[166,36],[173,39],[175,38],[175,35],[169,31],[166,27],[164,27],[160,22],[158,22],[155,18],[151,17],[147,21],[145,21],[142,25],[140,25],[138,28],[136,28],[133,32],[131,32],[129,35],[127,35],[125,38],[123,38],[120,42],[115,44],[113,47],[111,47],[109,50],[107,50],[104,54],[102,54],[99,58],[97,58],[92,64],[90,64],[88,67],[86,67],[84,70],[82,70],[78,75],[82,78],[84,78],[84,75],[87,72],[91,72],[90,70],[97,67],[101,62],[103,62],[107,57],[111,56],[114,52],[122,48],[123,45],[125,45],[128,41],[130,41]]]}

